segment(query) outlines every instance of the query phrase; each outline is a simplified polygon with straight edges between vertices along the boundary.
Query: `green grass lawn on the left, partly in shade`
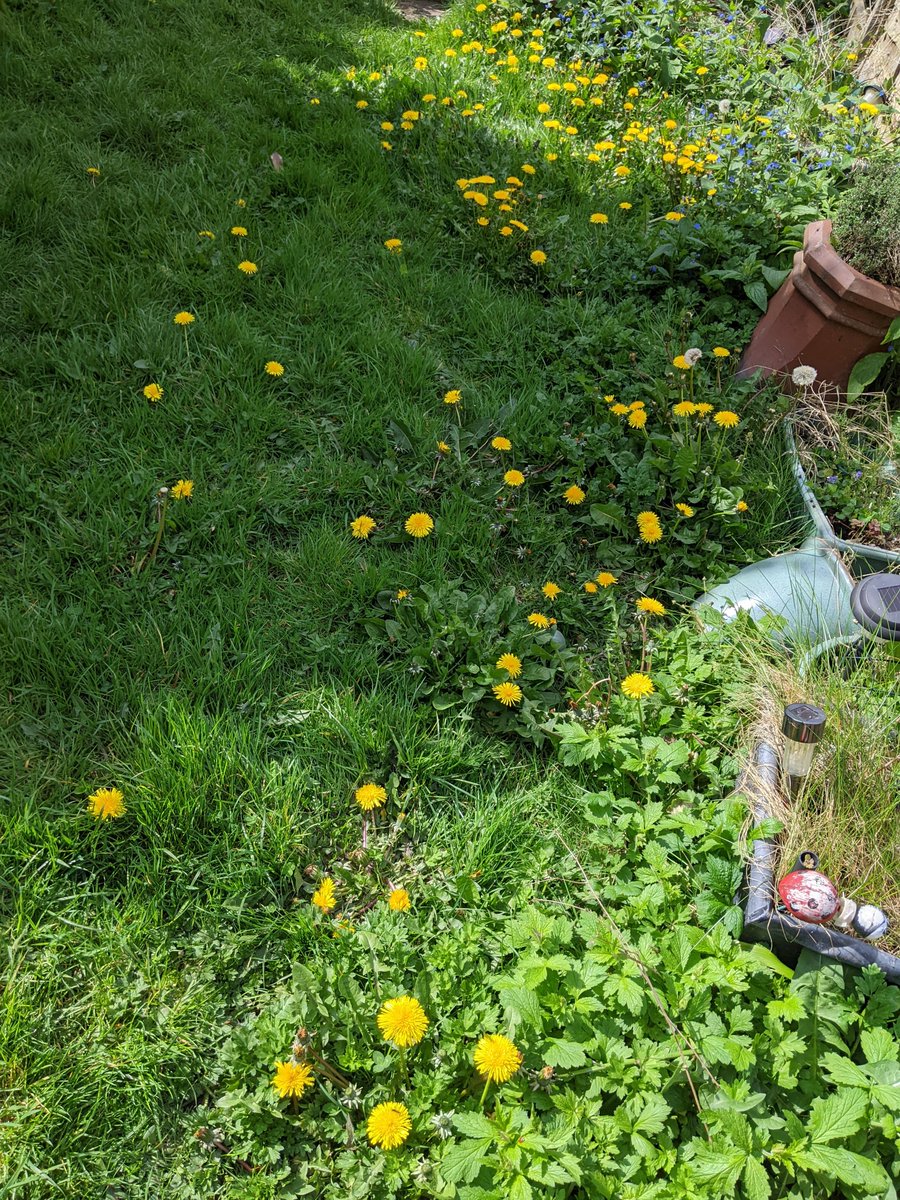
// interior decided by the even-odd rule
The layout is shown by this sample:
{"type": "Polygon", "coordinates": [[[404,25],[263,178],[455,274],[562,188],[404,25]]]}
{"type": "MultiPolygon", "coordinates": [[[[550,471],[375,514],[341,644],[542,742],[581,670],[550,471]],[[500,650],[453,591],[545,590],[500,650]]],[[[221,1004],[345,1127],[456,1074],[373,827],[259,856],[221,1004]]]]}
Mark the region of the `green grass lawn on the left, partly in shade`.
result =
{"type": "MultiPolygon", "coordinates": [[[[365,623],[398,589],[534,606],[606,568],[678,604],[794,538],[758,430],[752,520],[694,547],[692,575],[541,494],[498,500],[493,434],[504,467],[554,472],[586,392],[661,378],[697,328],[737,352],[755,310],[629,290],[638,252],[584,222],[544,276],[457,236],[457,175],[527,161],[533,136],[510,116],[384,151],[346,73],[413,34],[373,0],[0,10],[5,1196],[176,1194],[218,1048],[311,953],[310,881],[358,844],[360,782],[390,781],[422,860],[488,906],[575,824],[578,769],[436,713],[390,660],[365,623]],[[154,554],[178,480],[193,497],[154,554]],[[414,542],[420,510],[437,536],[414,542]],[[88,816],[106,786],[121,821],[88,816]]],[[[415,98],[391,77],[394,112],[415,98]]],[[[575,169],[546,186],[557,216],[595,205],[575,169]]],[[[618,620],[571,608],[598,674],[607,642],[637,670],[618,620]]]]}

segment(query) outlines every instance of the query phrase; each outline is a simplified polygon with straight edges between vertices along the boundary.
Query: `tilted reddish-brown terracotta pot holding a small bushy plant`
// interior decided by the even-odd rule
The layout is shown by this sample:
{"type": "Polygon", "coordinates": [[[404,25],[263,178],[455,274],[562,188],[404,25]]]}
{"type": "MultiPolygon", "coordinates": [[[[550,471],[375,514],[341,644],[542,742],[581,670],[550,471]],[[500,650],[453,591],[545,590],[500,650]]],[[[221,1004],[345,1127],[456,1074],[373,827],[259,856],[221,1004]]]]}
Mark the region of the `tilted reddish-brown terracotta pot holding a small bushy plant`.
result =
{"type": "Polygon", "coordinates": [[[815,367],[818,379],[846,390],[853,365],[881,347],[900,314],[900,288],[848,266],[832,246],[832,222],[812,221],[791,274],[769,301],[738,371],[746,378],[815,367]]]}

